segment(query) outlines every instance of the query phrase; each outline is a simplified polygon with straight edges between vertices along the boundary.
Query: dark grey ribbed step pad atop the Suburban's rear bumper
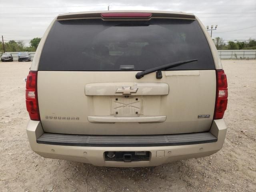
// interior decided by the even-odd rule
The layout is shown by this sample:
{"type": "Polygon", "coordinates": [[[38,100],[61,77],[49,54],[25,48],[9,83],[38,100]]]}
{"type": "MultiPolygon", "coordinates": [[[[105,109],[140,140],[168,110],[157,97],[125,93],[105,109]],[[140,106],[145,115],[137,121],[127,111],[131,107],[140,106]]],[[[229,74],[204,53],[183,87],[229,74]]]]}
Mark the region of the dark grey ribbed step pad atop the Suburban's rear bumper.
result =
{"type": "Polygon", "coordinates": [[[44,133],[37,140],[40,144],[90,147],[148,147],[178,146],[217,142],[210,132],[172,135],[70,135],[44,133]]]}

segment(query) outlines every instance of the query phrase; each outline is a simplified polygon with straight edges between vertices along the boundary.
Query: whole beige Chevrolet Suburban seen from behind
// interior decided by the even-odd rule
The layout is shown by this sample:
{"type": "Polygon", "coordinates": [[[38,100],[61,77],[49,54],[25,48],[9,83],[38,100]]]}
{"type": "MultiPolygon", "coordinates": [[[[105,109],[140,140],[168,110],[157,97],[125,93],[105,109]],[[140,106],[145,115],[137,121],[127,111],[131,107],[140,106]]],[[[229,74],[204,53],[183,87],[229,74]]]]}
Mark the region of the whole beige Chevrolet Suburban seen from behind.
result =
{"type": "Polygon", "coordinates": [[[28,74],[27,134],[46,158],[157,166],[220,150],[227,97],[216,48],[193,14],[62,14],[28,74]]]}

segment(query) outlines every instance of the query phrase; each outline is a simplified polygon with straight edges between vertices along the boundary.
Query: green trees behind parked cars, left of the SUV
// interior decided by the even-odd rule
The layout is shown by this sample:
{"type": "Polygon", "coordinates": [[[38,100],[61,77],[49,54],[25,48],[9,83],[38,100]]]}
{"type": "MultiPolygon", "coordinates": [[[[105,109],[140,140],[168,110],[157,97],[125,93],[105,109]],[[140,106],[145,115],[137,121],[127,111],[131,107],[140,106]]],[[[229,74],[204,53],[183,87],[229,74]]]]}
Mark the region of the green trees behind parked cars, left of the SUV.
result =
{"type": "Polygon", "coordinates": [[[3,43],[0,42],[0,52],[21,52],[21,51],[28,51],[28,52],[34,52],[36,51],[36,48],[40,42],[41,38],[36,37],[30,40],[29,44],[30,46],[25,46],[23,41],[14,41],[10,40],[8,42],[4,42],[4,47],[3,43]]]}

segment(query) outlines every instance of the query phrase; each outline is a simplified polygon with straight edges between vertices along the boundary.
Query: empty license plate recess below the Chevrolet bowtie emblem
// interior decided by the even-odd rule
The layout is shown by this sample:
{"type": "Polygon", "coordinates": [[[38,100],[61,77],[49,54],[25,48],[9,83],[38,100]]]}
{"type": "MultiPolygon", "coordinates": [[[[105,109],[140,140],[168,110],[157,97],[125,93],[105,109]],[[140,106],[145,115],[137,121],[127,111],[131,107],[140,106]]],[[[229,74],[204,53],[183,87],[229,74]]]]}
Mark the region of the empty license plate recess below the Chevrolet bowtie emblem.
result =
{"type": "Polygon", "coordinates": [[[118,96],[111,98],[110,103],[114,116],[139,116],[143,113],[143,99],[140,97],[118,96]]]}

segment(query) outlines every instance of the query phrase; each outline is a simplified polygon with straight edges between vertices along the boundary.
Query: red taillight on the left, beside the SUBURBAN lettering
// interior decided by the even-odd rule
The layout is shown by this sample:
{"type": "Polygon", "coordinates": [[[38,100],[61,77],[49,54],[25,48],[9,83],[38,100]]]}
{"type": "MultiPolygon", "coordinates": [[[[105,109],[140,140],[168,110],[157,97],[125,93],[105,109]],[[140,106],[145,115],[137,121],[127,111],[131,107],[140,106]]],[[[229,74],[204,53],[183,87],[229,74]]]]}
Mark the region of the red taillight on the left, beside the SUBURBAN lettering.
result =
{"type": "Polygon", "coordinates": [[[26,107],[31,120],[40,121],[37,99],[37,71],[30,71],[26,81],[26,107]]]}

